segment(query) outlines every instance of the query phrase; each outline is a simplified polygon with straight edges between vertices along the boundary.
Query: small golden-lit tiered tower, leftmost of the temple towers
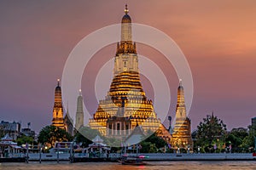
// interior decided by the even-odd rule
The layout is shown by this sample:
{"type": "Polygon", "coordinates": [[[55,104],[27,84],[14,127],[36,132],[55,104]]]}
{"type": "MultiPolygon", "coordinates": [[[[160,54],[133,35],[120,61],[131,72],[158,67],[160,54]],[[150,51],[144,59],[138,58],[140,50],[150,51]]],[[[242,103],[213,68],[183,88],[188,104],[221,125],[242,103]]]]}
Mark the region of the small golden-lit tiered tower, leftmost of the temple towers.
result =
{"type": "Polygon", "coordinates": [[[60,79],[58,79],[57,87],[55,88],[55,104],[53,108],[52,125],[64,128],[60,79]]]}

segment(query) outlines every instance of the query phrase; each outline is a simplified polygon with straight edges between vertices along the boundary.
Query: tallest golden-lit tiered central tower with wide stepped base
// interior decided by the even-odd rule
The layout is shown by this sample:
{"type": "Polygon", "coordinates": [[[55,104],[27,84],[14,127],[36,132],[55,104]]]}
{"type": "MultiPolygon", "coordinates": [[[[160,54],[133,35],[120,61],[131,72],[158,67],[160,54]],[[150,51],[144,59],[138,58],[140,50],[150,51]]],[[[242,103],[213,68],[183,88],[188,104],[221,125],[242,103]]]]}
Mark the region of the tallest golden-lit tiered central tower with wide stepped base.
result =
{"type": "Polygon", "coordinates": [[[127,137],[136,126],[142,126],[144,132],[154,132],[161,125],[140,82],[136,43],[132,42],[128,13],[125,5],[121,41],[117,43],[114,57],[113,82],[89,122],[91,128],[108,137],[127,137]]]}

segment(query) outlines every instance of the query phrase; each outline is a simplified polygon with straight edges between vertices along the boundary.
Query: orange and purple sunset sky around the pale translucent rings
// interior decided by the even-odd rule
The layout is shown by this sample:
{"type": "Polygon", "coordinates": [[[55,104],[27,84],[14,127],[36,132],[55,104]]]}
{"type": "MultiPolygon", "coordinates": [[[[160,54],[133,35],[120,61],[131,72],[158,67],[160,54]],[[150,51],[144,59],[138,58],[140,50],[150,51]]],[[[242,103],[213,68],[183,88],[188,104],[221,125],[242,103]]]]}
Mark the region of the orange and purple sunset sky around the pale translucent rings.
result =
{"type": "MultiPolygon", "coordinates": [[[[0,2],[0,121],[51,123],[56,80],[76,44],[92,31],[118,24],[128,4],[132,22],[154,26],[177,43],[193,75],[192,129],[212,111],[228,129],[247,127],[256,116],[256,1],[254,0],[39,0],[0,2]]],[[[102,48],[97,62],[113,58],[102,48]],[[104,59],[101,59],[104,58],[104,59]]],[[[143,44],[138,54],[168,74],[175,114],[178,78],[162,55],[143,44]],[[169,68],[170,67],[170,68],[169,68]]],[[[97,103],[86,91],[94,65],[84,71],[82,91],[90,113],[97,103]],[[86,72],[87,71],[87,72],[86,72]]],[[[95,65],[97,67],[97,65],[95,65]]],[[[142,77],[143,78],[143,77],[142,77]]],[[[109,77],[112,79],[112,77],[109,77]]],[[[143,78],[148,99],[150,85],[143,78]]],[[[149,80],[150,82],[150,80],[149,80]]],[[[109,87],[107,87],[108,89],[109,87]]],[[[107,94],[107,92],[105,92],[107,94]]],[[[166,102],[166,101],[165,101],[166,102]]]]}

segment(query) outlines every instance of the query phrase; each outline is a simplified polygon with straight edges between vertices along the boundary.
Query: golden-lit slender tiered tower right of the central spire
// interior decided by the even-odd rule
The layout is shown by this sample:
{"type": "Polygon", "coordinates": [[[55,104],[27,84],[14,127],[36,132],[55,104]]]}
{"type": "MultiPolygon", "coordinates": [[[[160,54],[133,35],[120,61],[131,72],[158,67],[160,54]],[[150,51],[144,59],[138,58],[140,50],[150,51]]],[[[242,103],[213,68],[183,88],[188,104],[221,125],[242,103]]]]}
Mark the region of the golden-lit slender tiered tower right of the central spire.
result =
{"type": "Polygon", "coordinates": [[[193,141],[191,137],[190,119],[186,114],[184,89],[182,80],[179,81],[177,88],[177,106],[176,106],[176,122],[171,139],[172,148],[193,150],[193,141]]]}

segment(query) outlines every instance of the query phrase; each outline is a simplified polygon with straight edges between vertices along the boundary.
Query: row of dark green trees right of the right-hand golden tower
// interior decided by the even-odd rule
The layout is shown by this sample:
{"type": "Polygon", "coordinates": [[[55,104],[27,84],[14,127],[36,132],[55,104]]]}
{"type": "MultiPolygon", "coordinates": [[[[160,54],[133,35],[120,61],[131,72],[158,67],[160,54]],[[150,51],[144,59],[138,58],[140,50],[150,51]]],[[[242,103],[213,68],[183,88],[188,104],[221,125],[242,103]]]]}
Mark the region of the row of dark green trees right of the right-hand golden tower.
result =
{"type": "Polygon", "coordinates": [[[255,135],[255,130],[251,127],[249,133],[243,127],[233,128],[227,133],[224,122],[213,115],[204,118],[192,133],[195,139],[194,150],[198,150],[200,146],[201,153],[230,151],[230,145],[232,152],[253,151],[255,135]]]}

